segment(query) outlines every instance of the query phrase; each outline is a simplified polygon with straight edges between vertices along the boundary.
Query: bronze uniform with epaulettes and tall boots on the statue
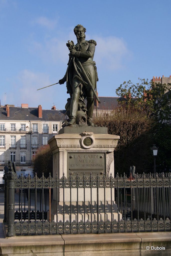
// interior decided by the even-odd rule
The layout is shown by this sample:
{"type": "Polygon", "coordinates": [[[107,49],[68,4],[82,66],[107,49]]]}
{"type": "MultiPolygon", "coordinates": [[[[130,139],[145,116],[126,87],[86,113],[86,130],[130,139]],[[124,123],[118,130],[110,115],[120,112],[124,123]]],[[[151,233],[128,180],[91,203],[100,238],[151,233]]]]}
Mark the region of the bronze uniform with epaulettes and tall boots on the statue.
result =
{"type": "MultiPolygon", "coordinates": [[[[89,78],[93,88],[96,87],[97,82],[97,69],[95,62],[93,61],[95,52],[96,41],[94,40],[83,40],[80,42],[77,40],[75,46],[76,52],[74,58],[69,59],[69,67],[63,78],[66,81],[67,92],[72,95],[71,100],[71,119],[76,119],[78,110],[78,100],[80,97],[84,100],[87,98],[87,124],[92,125],[92,116],[94,110],[94,93],[90,88],[90,85],[85,85],[85,78],[77,65],[77,59],[81,62],[82,67],[89,78]]],[[[94,125],[94,124],[93,124],[94,125]]]]}

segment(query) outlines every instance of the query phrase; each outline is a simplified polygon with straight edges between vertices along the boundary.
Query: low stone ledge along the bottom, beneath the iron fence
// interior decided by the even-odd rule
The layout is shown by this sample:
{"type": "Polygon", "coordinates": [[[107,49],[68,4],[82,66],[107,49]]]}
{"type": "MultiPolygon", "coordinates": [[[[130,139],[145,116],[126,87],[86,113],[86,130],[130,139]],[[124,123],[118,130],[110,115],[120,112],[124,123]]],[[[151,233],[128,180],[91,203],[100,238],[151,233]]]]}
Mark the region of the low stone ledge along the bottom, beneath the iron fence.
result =
{"type": "Polygon", "coordinates": [[[171,232],[62,234],[4,238],[0,233],[3,256],[169,256],[171,232]],[[147,250],[146,246],[150,249],[147,250]],[[151,246],[165,250],[151,250],[151,246]]]}

